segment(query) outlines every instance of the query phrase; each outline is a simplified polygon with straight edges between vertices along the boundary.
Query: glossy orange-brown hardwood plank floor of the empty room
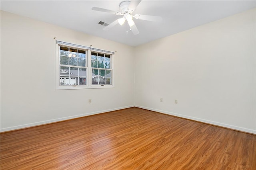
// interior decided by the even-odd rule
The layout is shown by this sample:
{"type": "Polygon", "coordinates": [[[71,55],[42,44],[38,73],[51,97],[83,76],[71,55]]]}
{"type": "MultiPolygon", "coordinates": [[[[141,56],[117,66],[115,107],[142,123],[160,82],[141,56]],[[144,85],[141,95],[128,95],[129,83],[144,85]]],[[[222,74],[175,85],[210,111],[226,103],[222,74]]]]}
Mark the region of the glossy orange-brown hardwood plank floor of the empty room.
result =
{"type": "Polygon", "coordinates": [[[256,170],[256,135],[136,107],[1,133],[1,170],[256,170]]]}

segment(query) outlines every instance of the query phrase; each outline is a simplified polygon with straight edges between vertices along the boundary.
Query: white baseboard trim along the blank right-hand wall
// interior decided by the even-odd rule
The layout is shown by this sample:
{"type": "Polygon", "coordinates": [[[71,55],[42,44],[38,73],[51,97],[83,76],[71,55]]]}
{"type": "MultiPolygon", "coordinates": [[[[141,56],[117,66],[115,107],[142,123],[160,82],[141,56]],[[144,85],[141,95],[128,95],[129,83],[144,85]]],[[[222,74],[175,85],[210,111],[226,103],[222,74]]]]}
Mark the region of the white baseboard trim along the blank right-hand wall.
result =
{"type": "Polygon", "coordinates": [[[182,114],[173,113],[173,112],[164,111],[164,110],[153,109],[153,108],[144,107],[144,106],[137,106],[137,105],[135,105],[135,107],[139,107],[139,108],[147,109],[147,110],[151,110],[151,111],[156,111],[156,112],[164,113],[164,114],[167,114],[167,115],[173,115],[173,116],[177,116],[177,117],[182,117],[182,118],[186,118],[186,119],[190,119],[190,120],[194,120],[194,121],[199,121],[199,122],[203,122],[203,123],[208,123],[208,124],[212,124],[212,125],[217,125],[217,126],[221,126],[221,127],[226,127],[226,128],[229,128],[229,129],[234,129],[234,130],[238,130],[238,131],[243,131],[243,132],[247,132],[247,133],[256,134],[256,129],[255,130],[254,129],[247,129],[247,128],[244,128],[244,127],[228,125],[228,124],[225,124],[225,123],[219,123],[219,122],[216,122],[216,121],[200,119],[200,118],[197,118],[197,117],[182,115],[182,114]]]}

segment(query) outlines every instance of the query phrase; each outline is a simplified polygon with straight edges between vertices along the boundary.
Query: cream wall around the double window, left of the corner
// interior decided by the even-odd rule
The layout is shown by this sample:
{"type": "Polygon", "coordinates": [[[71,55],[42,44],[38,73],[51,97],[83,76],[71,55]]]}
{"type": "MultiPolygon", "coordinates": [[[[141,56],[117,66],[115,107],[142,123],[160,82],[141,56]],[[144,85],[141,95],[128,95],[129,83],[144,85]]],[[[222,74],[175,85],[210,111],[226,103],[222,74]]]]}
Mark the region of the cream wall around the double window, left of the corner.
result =
{"type": "Polygon", "coordinates": [[[1,131],[134,106],[133,54],[127,45],[1,11],[1,131]],[[115,88],[54,90],[53,37],[117,51],[115,88]]]}

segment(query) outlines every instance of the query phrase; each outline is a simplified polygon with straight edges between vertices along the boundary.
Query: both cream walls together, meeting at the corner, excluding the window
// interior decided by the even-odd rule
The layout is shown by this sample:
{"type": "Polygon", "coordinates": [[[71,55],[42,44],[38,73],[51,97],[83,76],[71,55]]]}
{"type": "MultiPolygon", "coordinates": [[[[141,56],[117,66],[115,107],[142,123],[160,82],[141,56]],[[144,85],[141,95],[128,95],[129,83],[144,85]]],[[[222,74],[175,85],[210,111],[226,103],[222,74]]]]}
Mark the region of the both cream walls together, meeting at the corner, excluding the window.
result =
{"type": "Polygon", "coordinates": [[[256,133],[255,24],[254,9],[134,48],[1,11],[1,131],[135,100],[137,107],[256,133]],[[117,51],[115,88],[54,90],[53,37],[117,51]]]}

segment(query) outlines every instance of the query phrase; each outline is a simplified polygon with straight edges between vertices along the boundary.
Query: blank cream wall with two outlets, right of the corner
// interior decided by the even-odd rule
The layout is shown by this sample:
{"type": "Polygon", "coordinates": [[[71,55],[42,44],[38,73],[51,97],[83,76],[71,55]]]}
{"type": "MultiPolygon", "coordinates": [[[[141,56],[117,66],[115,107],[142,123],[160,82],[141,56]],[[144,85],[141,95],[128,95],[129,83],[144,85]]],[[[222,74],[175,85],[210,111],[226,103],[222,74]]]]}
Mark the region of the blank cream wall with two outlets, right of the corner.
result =
{"type": "Polygon", "coordinates": [[[135,105],[256,133],[255,25],[253,9],[136,47],[135,105]]]}

